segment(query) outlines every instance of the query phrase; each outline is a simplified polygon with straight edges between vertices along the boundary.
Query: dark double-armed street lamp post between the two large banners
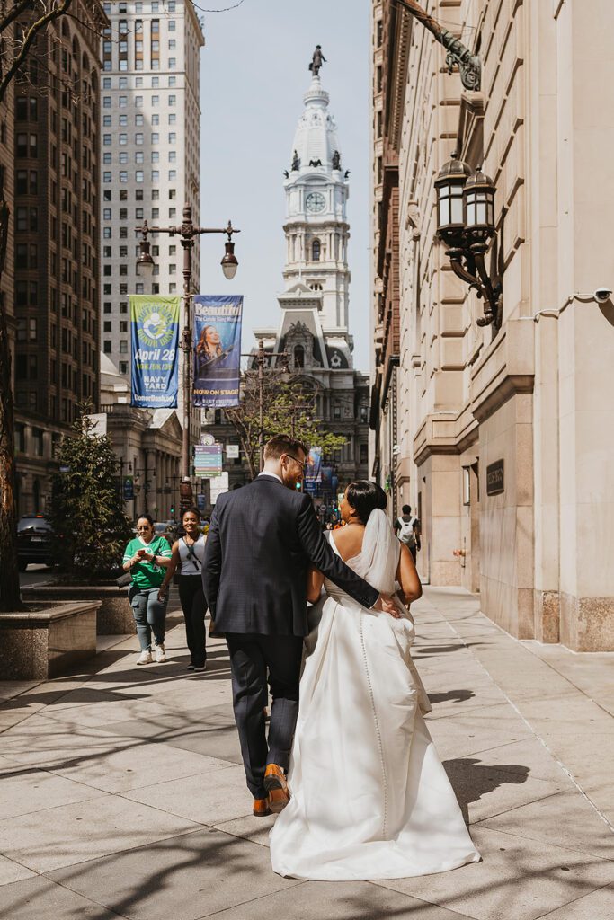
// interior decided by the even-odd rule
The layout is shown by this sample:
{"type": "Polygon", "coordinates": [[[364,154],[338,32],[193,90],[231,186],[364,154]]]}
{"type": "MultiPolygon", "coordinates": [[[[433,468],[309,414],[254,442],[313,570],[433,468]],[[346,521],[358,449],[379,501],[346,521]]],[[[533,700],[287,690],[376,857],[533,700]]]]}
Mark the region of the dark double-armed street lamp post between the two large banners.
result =
{"type": "Polygon", "coordinates": [[[136,265],[139,271],[149,271],[154,268],[154,259],[149,252],[150,233],[166,233],[168,236],[179,236],[183,247],[183,331],[181,333],[180,349],[183,351],[183,374],[181,376],[181,395],[183,397],[183,432],[181,439],[181,477],[183,480],[190,478],[190,407],[191,407],[191,250],[194,247],[194,237],[205,233],[225,233],[228,237],[225,244],[224,258],[221,261],[222,270],[228,281],[237,274],[237,257],[232,235],[240,233],[228,221],[226,227],[198,227],[192,223],[191,205],[186,202],[183,208],[183,223],[174,227],[150,227],[145,221],[143,226],[136,227],[136,232],[143,237],[139,244],[139,257],[136,265]]]}

